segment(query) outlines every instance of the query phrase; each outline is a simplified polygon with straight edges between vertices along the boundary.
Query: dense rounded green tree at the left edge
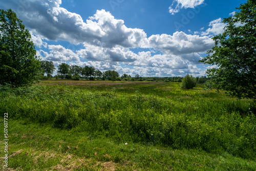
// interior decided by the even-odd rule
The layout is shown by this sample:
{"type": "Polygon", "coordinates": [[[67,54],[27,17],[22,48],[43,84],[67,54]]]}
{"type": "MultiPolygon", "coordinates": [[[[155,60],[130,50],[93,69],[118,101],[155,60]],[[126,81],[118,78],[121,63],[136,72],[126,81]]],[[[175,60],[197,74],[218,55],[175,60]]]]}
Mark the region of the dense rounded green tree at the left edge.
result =
{"type": "Polygon", "coordinates": [[[0,9],[0,83],[22,86],[40,74],[40,62],[31,35],[11,9],[0,9]]]}

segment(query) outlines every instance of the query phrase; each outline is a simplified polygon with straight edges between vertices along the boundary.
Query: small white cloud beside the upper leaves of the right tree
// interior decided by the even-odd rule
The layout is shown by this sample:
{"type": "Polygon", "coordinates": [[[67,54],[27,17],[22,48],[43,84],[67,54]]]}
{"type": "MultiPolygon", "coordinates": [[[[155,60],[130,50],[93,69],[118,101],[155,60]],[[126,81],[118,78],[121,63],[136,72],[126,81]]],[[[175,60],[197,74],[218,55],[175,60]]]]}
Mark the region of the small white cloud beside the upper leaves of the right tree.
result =
{"type": "Polygon", "coordinates": [[[212,20],[209,23],[210,28],[208,28],[206,31],[201,32],[202,36],[208,35],[208,36],[212,36],[213,35],[218,35],[224,32],[224,27],[226,26],[225,23],[222,23],[222,19],[218,18],[215,20],[212,20]]]}

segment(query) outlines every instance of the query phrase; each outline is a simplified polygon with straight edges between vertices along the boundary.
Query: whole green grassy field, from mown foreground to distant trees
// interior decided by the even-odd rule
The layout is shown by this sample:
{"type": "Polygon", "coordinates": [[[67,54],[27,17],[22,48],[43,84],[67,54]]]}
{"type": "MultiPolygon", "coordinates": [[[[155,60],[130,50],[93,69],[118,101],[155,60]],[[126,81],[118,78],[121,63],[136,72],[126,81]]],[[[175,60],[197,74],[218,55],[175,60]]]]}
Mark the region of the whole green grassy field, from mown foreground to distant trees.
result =
{"type": "Polygon", "coordinates": [[[256,170],[255,104],[202,84],[45,80],[0,89],[7,170],[256,170]]]}

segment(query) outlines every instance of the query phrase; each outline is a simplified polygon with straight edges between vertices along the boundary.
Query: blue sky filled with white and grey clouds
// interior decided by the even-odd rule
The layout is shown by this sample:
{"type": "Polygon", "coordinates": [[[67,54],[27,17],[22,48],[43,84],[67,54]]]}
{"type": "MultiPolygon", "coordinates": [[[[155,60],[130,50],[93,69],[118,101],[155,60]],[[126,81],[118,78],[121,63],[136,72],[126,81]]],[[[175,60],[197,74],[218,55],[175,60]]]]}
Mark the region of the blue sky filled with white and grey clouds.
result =
{"type": "MultiPolygon", "coordinates": [[[[31,33],[37,56],[120,75],[206,75],[198,60],[223,33],[237,0],[1,0],[31,33]]],[[[56,71],[54,72],[54,75],[56,71]]]]}

